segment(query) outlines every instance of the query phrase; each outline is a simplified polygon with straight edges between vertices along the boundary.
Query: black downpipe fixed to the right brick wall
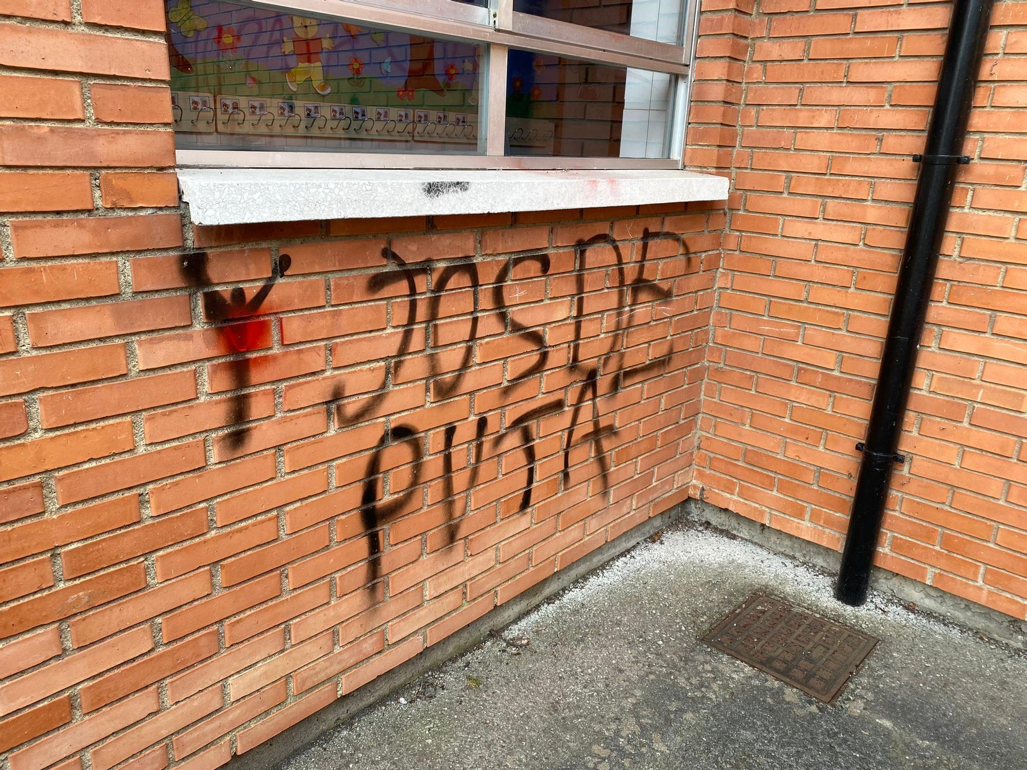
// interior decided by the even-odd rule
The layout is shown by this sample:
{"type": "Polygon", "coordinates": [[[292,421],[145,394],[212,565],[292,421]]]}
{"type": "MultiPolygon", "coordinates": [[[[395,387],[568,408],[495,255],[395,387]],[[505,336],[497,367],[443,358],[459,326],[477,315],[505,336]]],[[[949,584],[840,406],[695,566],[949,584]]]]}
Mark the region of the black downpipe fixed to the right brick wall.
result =
{"type": "Polygon", "coordinates": [[[867,601],[870,568],[881,531],[891,466],[896,460],[902,460],[896,455],[896,449],[949,216],[956,165],[969,162],[961,156],[962,143],[991,6],[992,0],[955,0],[926,149],[922,156],[913,156],[913,160],[921,163],[920,177],[899,269],[899,285],[892,301],[870,425],[866,440],[857,447],[863,450],[863,462],[835,590],[835,595],[847,605],[859,606],[867,601]]]}

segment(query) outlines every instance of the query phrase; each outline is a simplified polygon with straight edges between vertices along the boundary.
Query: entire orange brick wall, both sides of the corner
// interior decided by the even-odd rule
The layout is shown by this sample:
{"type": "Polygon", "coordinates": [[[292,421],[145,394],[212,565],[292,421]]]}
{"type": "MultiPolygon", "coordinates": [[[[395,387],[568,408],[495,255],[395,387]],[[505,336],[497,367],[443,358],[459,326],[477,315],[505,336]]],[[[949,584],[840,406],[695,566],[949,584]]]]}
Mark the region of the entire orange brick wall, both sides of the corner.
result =
{"type": "MultiPolygon", "coordinates": [[[[161,3],[0,0],[0,766],[219,766],[688,495],[838,547],[948,6],[821,4],[706,3],[727,213],[194,228],[161,3]]],[[[880,553],[1020,618],[1025,12],[880,553]]]]}

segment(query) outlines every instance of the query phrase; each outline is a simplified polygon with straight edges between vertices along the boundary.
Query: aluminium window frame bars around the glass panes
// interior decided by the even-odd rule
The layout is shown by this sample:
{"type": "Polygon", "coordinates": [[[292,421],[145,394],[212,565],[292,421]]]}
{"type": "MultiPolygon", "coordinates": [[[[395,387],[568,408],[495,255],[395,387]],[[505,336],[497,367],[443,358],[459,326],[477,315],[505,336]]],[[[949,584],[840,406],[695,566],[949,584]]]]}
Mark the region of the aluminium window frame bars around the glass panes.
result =
{"type": "Polygon", "coordinates": [[[270,10],[306,12],[369,26],[482,45],[486,55],[479,153],[369,153],[177,149],[185,167],[255,168],[683,168],[695,38],[700,0],[682,0],[681,45],[646,40],[514,10],[514,0],[488,7],[455,0],[243,0],[270,10]],[[671,100],[668,158],[542,157],[505,154],[506,73],[510,48],[677,76],[671,100]]]}

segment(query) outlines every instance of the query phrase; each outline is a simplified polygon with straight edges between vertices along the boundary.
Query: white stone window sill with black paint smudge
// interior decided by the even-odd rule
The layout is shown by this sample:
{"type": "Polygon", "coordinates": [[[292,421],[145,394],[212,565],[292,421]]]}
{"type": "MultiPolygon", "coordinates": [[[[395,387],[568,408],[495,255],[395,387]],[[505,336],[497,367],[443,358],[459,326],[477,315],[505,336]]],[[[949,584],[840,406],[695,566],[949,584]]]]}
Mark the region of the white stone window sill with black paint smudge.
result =
{"type": "Polygon", "coordinates": [[[725,200],[683,170],[180,168],[196,225],[539,211],[725,200]]]}

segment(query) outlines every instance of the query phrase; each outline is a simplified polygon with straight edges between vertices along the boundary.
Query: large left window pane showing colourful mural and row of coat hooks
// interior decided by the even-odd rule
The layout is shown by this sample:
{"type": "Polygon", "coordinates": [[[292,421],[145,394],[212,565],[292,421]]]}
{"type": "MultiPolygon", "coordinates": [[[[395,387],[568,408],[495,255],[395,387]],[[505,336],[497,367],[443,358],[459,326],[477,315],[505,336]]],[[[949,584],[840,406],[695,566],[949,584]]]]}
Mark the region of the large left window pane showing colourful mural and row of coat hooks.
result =
{"type": "Polygon", "coordinates": [[[178,146],[479,152],[485,48],[214,0],[166,0],[178,146]]]}

